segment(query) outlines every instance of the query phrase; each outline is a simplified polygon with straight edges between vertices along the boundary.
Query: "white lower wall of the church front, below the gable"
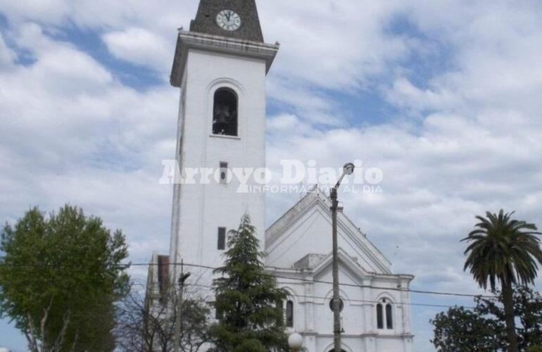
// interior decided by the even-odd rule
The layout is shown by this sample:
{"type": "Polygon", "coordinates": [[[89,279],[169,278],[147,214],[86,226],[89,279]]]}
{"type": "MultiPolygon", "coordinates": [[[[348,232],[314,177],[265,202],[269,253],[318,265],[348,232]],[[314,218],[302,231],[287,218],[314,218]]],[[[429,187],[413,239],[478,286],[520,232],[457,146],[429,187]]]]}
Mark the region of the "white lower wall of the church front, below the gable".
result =
{"type": "MultiPolygon", "coordinates": [[[[332,298],[331,266],[323,275],[312,277],[301,270],[271,270],[278,276],[279,287],[286,289],[294,302],[294,327],[288,332],[298,332],[304,338],[304,346],[309,352],[328,352],[333,344],[333,313],[329,309],[332,298]],[[284,279],[297,277],[298,279],[284,279]],[[305,282],[299,280],[304,279],[305,282]],[[324,298],[322,298],[324,297],[324,298]]],[[[339,281],[341,284],[360,284],[372,287],[408,287],[411,277],[389,275],[386,277],[366,277],[351,279],[350,270],[341,265],[339,281]]],[[[361,352],[411,352],[412,332],[410,330],[410,306],[408,296],[401,291],[372,289],[370,287],[341,287],[344,310],[341,322],[344,334],[341,335],[345,351],[361,352]],[[393,329],[377,329],[377,301],[386,297],[393,305],[393,329]],[[406,301],[405,301],[406,299],[406,301]]]]}

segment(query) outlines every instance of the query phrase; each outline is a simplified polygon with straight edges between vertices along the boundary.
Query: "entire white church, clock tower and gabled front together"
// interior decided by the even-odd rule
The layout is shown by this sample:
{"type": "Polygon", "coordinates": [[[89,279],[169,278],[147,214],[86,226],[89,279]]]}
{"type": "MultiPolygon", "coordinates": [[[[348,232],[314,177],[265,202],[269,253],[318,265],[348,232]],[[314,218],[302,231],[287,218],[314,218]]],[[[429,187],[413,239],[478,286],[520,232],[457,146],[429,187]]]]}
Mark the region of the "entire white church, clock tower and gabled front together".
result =
{"type": "MultiPolygon", "coordinates": [[[[265,168],[265,81],[278,44],[265,44],[255,0],[201,0],[189,30],[179,30],[170,82],[180,88],[179,178],[217,170],[211,182],[175,182],[170,253],[153,255],[148,294],[176,282],[179,265],[192,266],[202,294],[222,265],[227,231],[249,213],[267,253],[268,272],[289,293],[288,332],[308,352],[333,348],[331,202],[308,192],[265,230],[265,194],[239,191],[232,168],[265,168]],[[192,170],[192,171],[191,171],[192,170]],[[192,175],[187,175],[193,173],[192,175]]],[[[201,177],[201,175],[198,175],[201,177]]],[[[179,180],[177,180],[179,181],[179,180]]],[[[253,179],[248,181],[254,182],[253,179]]],[[[346,215],[338,216],[342,345],[346,352],[410,352],[412,275],[391,263],[346,215]]]]}

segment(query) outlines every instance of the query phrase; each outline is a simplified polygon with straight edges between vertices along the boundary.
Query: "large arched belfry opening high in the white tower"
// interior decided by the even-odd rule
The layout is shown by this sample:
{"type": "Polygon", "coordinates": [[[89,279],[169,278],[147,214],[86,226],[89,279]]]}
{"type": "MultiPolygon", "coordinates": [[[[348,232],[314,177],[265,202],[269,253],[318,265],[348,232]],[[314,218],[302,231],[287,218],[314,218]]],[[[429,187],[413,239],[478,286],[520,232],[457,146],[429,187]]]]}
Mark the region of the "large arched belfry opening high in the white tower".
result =
{"type": "Polygon", "coordinates": [[[237,136],[237,105],[237,94],[232,89],[217,89],[213,106],[213,134],[237,136]]]}

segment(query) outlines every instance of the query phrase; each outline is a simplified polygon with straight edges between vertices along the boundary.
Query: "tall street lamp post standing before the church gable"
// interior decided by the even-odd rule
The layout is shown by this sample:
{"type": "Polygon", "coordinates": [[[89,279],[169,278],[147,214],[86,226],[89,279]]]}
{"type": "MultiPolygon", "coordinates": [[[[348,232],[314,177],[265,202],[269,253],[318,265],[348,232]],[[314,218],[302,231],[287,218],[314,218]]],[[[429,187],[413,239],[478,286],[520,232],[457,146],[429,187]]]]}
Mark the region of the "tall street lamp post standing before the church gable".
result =
{"type": "Polygon", "coordinates": [[[339,297],[339,254],[337,245],[337,211],[339,201],[337,200],[337,190],[341,186],[341,182],[346,175],[352,175],[354,172],[354,164],[347,163],[344,165],[343,174],[331,189],[329,198],[332,201],[332,237],[333,237],[333,343],[334,352],[341,352],[341,298],[339,297]]]}

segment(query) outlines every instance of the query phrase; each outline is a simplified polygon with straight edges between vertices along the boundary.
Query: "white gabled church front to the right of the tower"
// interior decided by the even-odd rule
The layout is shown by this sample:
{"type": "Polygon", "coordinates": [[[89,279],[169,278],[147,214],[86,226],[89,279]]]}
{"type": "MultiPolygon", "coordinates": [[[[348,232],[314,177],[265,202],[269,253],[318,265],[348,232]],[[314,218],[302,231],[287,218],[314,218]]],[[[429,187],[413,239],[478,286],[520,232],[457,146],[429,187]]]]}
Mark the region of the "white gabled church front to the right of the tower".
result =
{"type": "MultiPolygon", "coordinates": [[[[289,292],[286,326],[308,351],[333,349],[332,215],[329,197],[308,193],[265,232],[266,266],[289,292]]],[[[347,352],[410,352],[412,275],[394,275],[389,260],[346,215],[337,217],[341,343],[347,352]]]]}

